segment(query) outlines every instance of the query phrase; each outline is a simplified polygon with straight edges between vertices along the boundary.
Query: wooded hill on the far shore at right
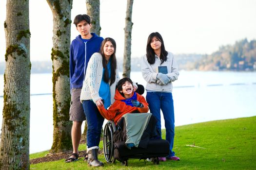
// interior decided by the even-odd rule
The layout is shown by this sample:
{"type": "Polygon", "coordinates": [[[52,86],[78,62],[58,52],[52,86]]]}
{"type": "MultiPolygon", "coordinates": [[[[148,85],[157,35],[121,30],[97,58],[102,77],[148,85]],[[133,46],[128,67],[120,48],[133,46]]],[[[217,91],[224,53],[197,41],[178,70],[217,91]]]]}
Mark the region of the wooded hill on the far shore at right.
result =
{"type": "Polygon", "coordinates": [[[236,41],[234,45],[219,47],[211,55],[204,55],[194,63],[193,69],[197,70],[256,70],[256,40],[248,41],[247,38],[236,41]]]}

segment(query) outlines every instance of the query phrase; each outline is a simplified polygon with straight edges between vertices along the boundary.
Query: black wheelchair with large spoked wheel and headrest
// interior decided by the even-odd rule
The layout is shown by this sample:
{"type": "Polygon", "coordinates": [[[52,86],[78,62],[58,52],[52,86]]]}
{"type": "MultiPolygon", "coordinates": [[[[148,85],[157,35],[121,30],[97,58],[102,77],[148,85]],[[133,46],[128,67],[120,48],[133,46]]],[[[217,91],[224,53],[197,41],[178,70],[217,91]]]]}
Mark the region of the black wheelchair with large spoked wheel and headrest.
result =
{"type": "MultiPolygon", "coordinates": [[[[136,92],[142,95],[144,93],[143,85],[138,85],[136,92]]],[[[125,141],[114,142],[114,132],[117,129],[118,127],[112,120],[108,120],[103,129],[103,152],[108,163],[115,163],[118,160],[122,165],[128,166],[128,159],[144,159],[144,161],[147,160],[158,165],[158,157],[169,154],[170,144],[164,139],[149,139],[147,148],[132,147],[128,149],[125,141]]]]}

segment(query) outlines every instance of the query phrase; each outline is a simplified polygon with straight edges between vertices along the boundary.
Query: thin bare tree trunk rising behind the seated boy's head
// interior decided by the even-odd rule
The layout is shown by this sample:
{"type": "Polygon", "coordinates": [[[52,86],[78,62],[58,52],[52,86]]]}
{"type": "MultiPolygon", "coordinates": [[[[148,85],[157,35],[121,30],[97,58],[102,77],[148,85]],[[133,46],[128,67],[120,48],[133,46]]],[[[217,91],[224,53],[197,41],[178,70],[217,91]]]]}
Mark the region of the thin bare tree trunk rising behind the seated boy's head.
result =
{"type": "Polygon", "coordinates": [[[129,77],[131,73],[131,41],[132,41],[132,12],[133,0],[127,0],[125,28],[124,28],[124,53],[123,53],[123,77],[129,77]]]}

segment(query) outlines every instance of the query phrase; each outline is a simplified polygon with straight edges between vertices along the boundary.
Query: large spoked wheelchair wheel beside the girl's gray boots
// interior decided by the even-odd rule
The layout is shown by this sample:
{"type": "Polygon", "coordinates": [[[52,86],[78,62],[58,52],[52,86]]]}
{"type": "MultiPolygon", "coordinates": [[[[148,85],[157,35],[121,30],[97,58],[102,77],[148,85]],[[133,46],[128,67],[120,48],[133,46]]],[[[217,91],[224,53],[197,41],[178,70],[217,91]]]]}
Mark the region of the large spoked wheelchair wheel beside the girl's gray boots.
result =
{"type": "Polygon", "coordinates": [[[116,125],[113,121],[108,121],[103,131],[103,151],[104,157],[108,163],[115,163],[113,133],[116,131],[116,125]]]}

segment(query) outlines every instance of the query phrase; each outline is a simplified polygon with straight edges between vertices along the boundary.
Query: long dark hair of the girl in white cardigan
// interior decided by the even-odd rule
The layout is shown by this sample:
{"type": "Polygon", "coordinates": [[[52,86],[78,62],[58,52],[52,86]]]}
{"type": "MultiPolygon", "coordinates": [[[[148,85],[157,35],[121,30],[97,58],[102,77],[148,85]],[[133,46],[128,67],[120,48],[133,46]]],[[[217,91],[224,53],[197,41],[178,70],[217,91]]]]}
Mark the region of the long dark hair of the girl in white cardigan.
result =
{"type": "Polygon", "coordinates": [[[103,68],[105,69],[103,80],[106,83],[109,83],[110,81],[110,85],[112,85],[116,80],[116,69],[117,69],[116,49],[117,49],[116,41],[113,38],[107,37],[102,41],[101,47],[99,50],[99,53],[102,55],[102,65],[103,65],[103,68]],[[110,56],[110,62],[111,62],[110,63],[111,65],[110,80],[109,80],[109,73],[107,68],[107,60],[104,54],[104,45],[107,41],[110,41],[114,46],[114,53],[110,56]]]}

